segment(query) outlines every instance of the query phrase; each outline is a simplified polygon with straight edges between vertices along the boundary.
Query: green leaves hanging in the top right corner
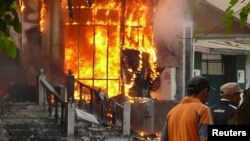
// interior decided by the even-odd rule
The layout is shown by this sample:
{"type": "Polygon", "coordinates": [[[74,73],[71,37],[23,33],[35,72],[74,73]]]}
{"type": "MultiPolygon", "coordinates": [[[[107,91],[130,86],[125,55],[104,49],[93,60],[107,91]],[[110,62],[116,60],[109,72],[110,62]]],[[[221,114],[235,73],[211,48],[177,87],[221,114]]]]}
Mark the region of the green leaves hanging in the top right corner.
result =
{"type": "Polygon", "coordinates": [[[230,33],[233,26],[234,16],[239,14],[240,27],[243,28],[247,24],[248,14],[250,12],[250,2],[246,3],[239,11],[234,11],[233,7],[239,3],[239,0],[230,0],[229,6],[225,11],[222,20],[226,23],[226,34],[230,33]]]}

